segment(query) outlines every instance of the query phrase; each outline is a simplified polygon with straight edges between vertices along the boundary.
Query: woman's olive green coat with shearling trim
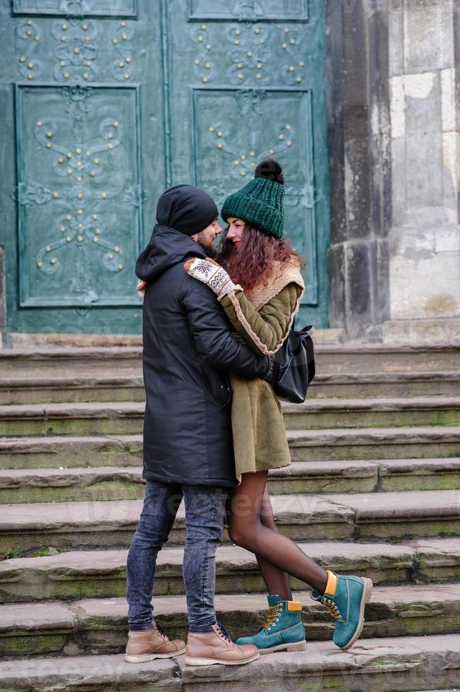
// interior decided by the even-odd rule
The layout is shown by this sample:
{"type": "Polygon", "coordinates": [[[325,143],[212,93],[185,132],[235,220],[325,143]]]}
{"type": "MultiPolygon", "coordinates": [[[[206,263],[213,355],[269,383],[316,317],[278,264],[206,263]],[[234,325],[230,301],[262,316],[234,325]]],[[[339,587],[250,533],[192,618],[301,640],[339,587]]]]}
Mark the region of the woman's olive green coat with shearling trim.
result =
{"type": "MultiPolygon", "coordinates": [[[[292,274],[292,272],[291,272],[292,274]]],[[[295,276],[295,274],[294,274],[295,276]]],[[[286,276],[286,280],[289,276],[286,276]]],[[[279,285],[279,281],[278,281],[279,285]]],[[[276,290],[276,287],[275,287],[276,290]]],[[[265,305],[260,294],[251,302],[242,291],[221,300],[222,307],[238,335],[262,355],[277,352],[286,340],[303,295],[298,279],[282,287],[265,305]]],[[[234,438],[236,476],[291,464],[284,429],[282,407],[269,383],[230,376],[233,390],[231,423],[234,438]]]]}

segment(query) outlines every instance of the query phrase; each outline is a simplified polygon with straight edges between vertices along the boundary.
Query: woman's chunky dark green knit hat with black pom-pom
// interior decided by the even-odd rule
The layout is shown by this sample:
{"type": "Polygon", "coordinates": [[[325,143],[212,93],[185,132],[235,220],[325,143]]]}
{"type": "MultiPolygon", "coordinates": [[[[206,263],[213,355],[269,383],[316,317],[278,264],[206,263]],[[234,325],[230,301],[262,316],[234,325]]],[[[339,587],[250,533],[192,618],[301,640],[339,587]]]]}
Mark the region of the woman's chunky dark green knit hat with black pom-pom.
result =
{"type": "Polygon", "coordinates": [[[226,198],[221,216],[224,221],[234,216],[267,235],[282,238],[284,177],[279,163],[273,159],[260,162],[254,179],[226,198]]]}

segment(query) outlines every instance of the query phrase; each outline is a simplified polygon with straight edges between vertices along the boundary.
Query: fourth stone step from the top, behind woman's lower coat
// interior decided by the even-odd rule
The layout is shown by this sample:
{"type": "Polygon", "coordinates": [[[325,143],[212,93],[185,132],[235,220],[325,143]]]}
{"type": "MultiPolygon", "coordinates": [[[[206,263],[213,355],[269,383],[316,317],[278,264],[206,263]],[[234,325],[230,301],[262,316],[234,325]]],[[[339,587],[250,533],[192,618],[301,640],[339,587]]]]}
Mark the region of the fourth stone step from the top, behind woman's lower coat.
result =
{"type": "MultiPolygon", "coordinates": [[[[456,457],[460,426],[289,430],[293,461],[456,457]]],[[[139,466],[142,435],[0,437],[0,468],[139,466]]]]}

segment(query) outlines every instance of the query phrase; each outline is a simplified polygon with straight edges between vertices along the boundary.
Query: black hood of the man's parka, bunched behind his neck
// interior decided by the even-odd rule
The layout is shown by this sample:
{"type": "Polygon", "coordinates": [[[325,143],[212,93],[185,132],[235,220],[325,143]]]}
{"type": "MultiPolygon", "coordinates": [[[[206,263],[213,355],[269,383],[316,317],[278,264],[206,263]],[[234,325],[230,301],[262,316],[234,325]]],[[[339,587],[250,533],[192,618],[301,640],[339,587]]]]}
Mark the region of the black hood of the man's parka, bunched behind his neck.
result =
{"type": "Polygon", "coordinates": [[[206,257],[200,244],[169,226],[156,225],[150,243],[135,263],[138,278],[150,283],[167,269],[183,263],[189,257],[206,257]]]}

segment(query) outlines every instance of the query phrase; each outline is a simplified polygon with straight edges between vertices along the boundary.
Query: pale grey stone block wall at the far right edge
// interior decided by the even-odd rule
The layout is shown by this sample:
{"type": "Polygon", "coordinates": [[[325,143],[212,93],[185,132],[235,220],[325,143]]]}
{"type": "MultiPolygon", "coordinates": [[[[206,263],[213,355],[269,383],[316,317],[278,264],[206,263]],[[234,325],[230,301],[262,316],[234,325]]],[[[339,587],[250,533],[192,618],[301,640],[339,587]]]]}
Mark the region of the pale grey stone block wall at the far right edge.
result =
{"type": "Polygon", "coordinates": [[[460,335],[460,5],[392,0],[386,340],[460,335]]]}

